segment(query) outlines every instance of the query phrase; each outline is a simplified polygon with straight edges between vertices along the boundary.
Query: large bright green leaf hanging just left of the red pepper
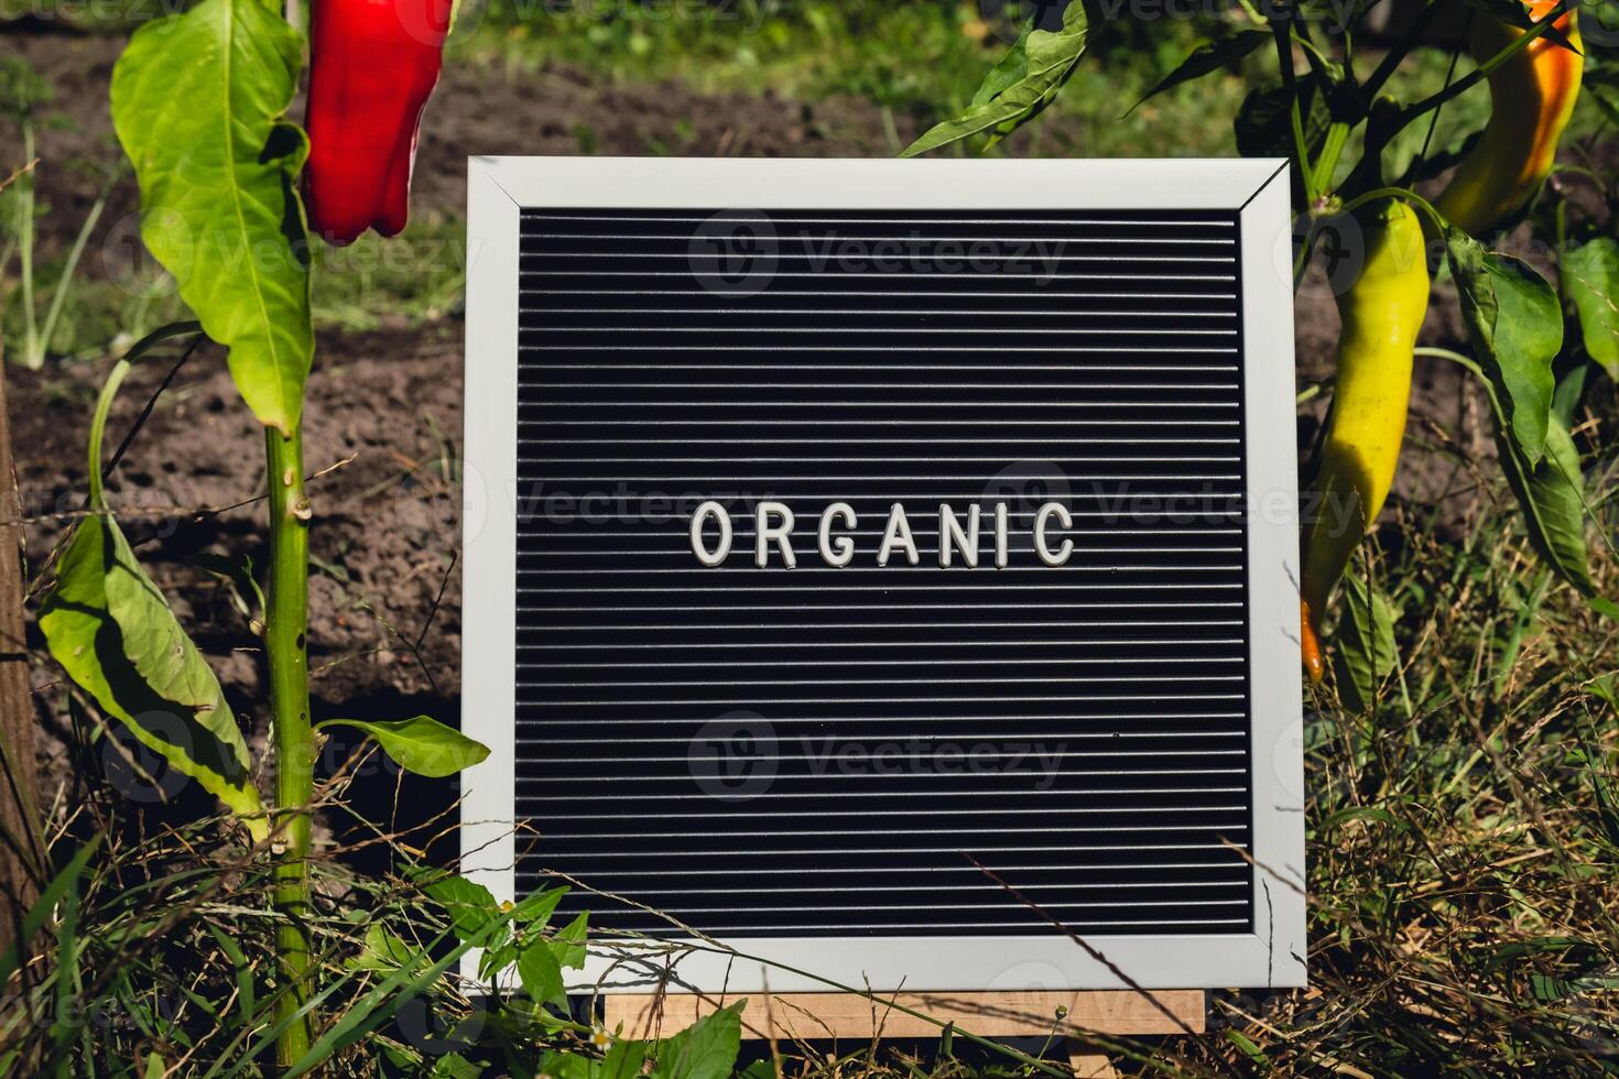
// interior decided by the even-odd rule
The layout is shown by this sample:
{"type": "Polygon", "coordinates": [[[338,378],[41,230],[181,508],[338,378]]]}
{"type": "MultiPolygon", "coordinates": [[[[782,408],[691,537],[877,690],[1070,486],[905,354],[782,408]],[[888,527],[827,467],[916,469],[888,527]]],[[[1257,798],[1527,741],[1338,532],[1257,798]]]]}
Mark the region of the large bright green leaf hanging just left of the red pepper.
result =
{"type": "Polygon", "coordinates": [[[308,139],[285,112],[303,36],[262,0],[202,0],[142,26],[112,76],[112,120],[141,184],[141,238],[230,349],[261,422],[290,429],[314,356],[296,178],[308,139]]]}

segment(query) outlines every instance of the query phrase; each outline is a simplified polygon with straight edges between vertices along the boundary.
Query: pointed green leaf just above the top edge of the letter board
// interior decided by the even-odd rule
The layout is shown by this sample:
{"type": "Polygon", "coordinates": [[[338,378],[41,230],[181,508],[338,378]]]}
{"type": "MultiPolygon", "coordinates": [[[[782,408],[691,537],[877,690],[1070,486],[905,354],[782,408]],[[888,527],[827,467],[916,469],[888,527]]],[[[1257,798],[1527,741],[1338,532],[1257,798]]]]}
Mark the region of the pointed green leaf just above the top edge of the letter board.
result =
{"type": "Polygon", "coordinates": [[[1062,13],[1062,29],[1022,34],[989,71],[967,112],[929,128],[900,157],[916,157],[976,134],[988,134],[991,144],[1004,139],[1057,97],[1085,55],[1088,34],[1085,5],[1073,0],[1062,13]]]}

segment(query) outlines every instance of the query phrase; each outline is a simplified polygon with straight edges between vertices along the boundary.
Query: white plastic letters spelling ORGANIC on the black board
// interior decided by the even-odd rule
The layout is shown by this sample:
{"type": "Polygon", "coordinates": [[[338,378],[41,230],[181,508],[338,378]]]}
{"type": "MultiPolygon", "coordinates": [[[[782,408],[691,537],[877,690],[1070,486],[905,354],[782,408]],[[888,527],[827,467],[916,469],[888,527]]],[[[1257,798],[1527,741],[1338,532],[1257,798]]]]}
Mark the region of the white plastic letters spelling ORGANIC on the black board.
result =
{"type": "MultiPolygon", "coordinates": [[[[954,508],[939,503],[939,565],[952,566],[960,556],[962,565],[970,569],[978,568],[979,534],[983,532],[983,508],[968,506],[965,514],[957,514],[954,508]],[[963,523],[965,516],[965,523],[963,523]]],[[[994,531],[994,565],[1005,569],[1007,550],[1010,545],[1010,527],[1007,503],[997,501],[991,510],[994,531]]],[[[1035,555],[1047,566],[1062,566],[1073,553],[1073,540],[1062,540],[1052,547],[1046,535],[1051,521],[1062,527],[1073,527],[1073,516],[1060,501],[1047,501],[1035,511],[1035,527],[1031,531],[1035,555]]],[[[753,565],[761,569],[776,565],[792,569],[798,565],[798,552],[793,548],[793,526],[798,518],[780,501],[761,501],[753,514],[753,565]]],[[[821,513],[816,526],[816,550],[821,561],[832,568],[843,568],[855,560],[855,540],[835,532],[853,531],[860,526],[855,508],[847,501],[834,501],[821,513]]],[[[719,566],[730,556],[732,526],[730,513],[717,501],[704,501],[691,514],[691,553],[704,566],[719,566]],[[714,542],[709,542],[709,524],[717,526],[714,542]]],[[[921,552],[916,548],[916,537],[911,532],[910,516],[905,506],[894,503],[889,506],[887,524],[882,527],[882,544],[877,545],[877,565],[886,566],[895,555],[903,555],[910,565],[921,563],[921,552]]]]}

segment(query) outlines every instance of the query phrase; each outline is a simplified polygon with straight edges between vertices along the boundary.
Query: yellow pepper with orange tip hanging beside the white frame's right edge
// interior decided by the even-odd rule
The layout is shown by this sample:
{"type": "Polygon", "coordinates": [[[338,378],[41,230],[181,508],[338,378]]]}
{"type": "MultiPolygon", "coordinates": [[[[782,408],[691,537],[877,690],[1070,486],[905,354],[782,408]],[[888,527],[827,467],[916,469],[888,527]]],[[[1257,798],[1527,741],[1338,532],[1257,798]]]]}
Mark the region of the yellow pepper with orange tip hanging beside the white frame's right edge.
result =
{"type": "Polygon", "coordinates": [[[1332,586],[1394,484],[1412,349],[1428,311],[1428,260],[1421,223],[1409,205],[1383,201],[1357,214],[1366,262],[1337,298],[1344,322],[1337,346],[1332,414],[1321,468],[1305,500],[1302,641],[1305,670],[1321,681],[1321,616],[1332,586]]]}

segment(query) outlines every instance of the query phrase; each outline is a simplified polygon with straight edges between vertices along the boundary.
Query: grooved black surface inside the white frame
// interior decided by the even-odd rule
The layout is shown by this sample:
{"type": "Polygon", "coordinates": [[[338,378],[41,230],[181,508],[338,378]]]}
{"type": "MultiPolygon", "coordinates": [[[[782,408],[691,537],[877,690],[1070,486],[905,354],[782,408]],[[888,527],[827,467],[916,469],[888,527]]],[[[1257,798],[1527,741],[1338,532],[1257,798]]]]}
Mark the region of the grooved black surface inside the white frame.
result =
{"type": "Polygon", "coordinates": [[[562,870],[722,937],[1056,932],[970,853],[1080,932],[1251,929],[1239,275],[1232,212],[525,210],[520,893],[562,870]],[[764,498],[795,569],[754,566],[764,498]],[[895,501],[915,568],[876,561],[895,501]],[[941,501],[984,508],[979,568],[939,568],[941,501]]]}

